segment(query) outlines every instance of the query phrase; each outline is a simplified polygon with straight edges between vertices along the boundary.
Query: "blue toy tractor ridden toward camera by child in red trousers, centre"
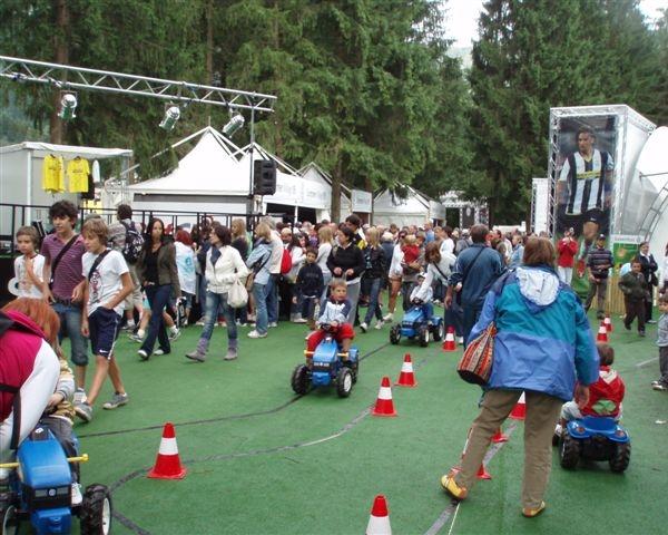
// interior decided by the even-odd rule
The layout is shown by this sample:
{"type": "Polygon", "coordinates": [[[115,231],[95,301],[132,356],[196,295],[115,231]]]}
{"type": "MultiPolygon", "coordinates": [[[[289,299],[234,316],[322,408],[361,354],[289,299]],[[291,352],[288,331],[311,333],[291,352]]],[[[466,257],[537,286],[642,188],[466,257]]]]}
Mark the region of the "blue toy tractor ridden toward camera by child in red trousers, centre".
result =
{"type": "Polygon", "coordinates": [[[315,351],[304,351],[305,364],[298,364],[292,374],[292,388],[296,393],[304,395],[308,387],[336,386],[336,393],[341,398],[351,395],[353,385],[357,382],[360,370],[360,352],[352,347],[347,353],[334,339],[332,329],[327,323],[321,324],[326,334],[318,343],[315,351]]]}

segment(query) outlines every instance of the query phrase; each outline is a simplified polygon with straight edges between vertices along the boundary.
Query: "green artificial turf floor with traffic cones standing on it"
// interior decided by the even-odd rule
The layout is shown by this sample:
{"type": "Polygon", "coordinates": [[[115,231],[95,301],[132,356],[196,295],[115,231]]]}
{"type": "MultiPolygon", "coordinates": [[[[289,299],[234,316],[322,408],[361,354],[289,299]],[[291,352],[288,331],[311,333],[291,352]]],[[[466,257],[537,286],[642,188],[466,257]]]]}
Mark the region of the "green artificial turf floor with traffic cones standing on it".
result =
{"type": "Polygon", "coordinates": [[[655,421],[668,419],[668,396],[649,388],[658,374],[656,327],[645,340],[619,321],[615,327],[630,467],[623,475],[607,464],[564,471],[554,451],[548,509],[539,518],[520,515],[521,422],[512,424],[510,440],[489,463],[493,479],[480,481],[454,514],[439,479],[460,457],[480,389],[454,372],[461,350],[443,352],[435,342],[391,346],[387,327],[357,334],[364,359],[347,399],[333,389],[301,398],[292,391],[292,370],[303,361],[301,325],[281,323],[263,340],[239,329],[233,362],[222,360],[226,334],[216,329],[202,364],[184,358],[198,327],[184,330],[171,354],[148,362],[122,335],[117,354],[130,402],[101,410],[107,385],[92,422],[77,424],[91,458],[82,479],[112,488],[114,533],[358,534],[376,494],[386,496],[393,531],[401,534],[436,527],[454,534],[660,533],[668,425],[655,421]],[[396,418],[369,416],[382,377],[394,382],[406,352],[419,386],[393,387],[396,418]],[[189,470],[183,480],[148,479],[144,471],[155,461],[166,421],[176,425],[189,470]]]}

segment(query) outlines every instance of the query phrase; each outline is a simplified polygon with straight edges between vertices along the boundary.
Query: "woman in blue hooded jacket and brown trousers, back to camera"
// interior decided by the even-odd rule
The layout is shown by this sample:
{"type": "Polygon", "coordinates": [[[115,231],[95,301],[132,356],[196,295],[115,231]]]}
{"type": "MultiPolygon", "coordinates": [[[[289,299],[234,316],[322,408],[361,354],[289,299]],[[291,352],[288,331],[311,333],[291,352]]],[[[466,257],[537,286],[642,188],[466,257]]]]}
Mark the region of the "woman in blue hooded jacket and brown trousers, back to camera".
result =
{"type": "Polygon", "coordinates": [[[583,406],[598,379],[599,358],[582,304],[554,272],[554,246],[531,237],[523,265],[497,281],[471,331],[475,339],[494,321],[493,367],[473,421],[461,470],[441,478],[444,490],[464,499],[475,483],[492,435],[525,393],[522,514],[533,517],[544,507],[550,475],[554,421],[573,396],[583,406]],[[576,383],[577,379],[577,383],[576,383]]]}

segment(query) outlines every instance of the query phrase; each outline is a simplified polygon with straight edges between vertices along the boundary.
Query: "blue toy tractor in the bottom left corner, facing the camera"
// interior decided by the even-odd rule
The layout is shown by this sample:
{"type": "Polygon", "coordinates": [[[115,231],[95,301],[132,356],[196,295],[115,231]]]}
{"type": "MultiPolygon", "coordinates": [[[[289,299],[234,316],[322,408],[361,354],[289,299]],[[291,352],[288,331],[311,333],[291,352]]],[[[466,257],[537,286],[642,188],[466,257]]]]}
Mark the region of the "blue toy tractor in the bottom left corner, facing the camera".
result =
{"type": "Polygon", "coordinates": [[[49,429],[36,428],[19,447],[17,463],[0,465],[11,469],[9,489],[0,489],[0,533],[17,534],[24,519],[30,521],[38,535],[70,533],[76,515],[82,535],[108,534],[111,496],[106,486],[88,486],[81,504],[71,505],[73,479],[69,465],[87,460],[87,455],[67,458],[49,429]]]}

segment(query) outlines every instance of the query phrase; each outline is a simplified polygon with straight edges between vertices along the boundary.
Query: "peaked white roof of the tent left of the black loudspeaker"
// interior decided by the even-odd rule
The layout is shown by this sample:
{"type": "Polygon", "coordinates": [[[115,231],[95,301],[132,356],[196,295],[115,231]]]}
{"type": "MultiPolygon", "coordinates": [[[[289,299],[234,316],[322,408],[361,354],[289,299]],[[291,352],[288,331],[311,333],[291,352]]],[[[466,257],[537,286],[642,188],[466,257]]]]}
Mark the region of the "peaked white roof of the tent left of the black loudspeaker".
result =
{"type": "MultiPolygon", "coordinates": [[[[164,177],[132,184],[129,189],[134,193],[246,195],[248,174],[232,155],[223,136],[212,127],[197,134],[202,134],[199,142],[176,169],[164,177]]],[[[195,135],[188,138],[193,137],[195,135]]]]}

